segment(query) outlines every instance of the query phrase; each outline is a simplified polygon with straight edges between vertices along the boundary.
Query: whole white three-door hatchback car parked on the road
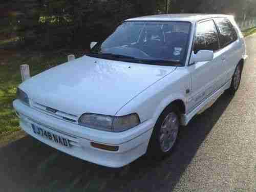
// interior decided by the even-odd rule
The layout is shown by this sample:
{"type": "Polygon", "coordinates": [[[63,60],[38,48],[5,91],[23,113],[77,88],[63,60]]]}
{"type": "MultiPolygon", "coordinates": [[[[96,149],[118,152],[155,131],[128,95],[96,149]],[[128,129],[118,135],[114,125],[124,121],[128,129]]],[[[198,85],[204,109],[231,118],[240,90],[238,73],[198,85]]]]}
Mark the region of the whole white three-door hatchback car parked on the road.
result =
{"type": "Polygon", "coordinates": [[[172,152],[180,125],[238,90],[245,59],[232,16],[127,19],[90,54],[20,84],[13,106],[41,142],[121,167],[172,152]]]}

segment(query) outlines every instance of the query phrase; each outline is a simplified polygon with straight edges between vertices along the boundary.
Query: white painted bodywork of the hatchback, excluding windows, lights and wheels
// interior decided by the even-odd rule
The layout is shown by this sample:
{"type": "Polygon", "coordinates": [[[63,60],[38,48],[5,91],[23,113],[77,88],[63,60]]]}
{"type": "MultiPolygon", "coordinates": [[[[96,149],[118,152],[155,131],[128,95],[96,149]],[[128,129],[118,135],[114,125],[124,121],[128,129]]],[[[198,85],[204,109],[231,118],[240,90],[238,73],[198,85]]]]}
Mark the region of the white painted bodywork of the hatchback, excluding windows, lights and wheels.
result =
{"type": "MultiPolygon", "coordinates": [[[[15,100],[14,109],[20,126],[31,136],[72,156],[109,167],[131,163],[147,151],[155,123],[173,101],[182,101],[181,120],[189,120],[214,102],[230,87],[238,62],[246,57],[245,42],[239,39],[214,53],[214,60],[190,63],[190,53],[197,23],[227,15],[178,14],[146,16],[128,20],[177,20],[192,24],[188,55],[184,67],[154,66],[83,56],[40,73],[22,84],[30,106],[15,100]],[[225,57],[225,58],[224,58],[225,57]],[[187,93],[187,90],[190,90],[187,93]],[[46,106],[57,109],[51,114],[46,106]],[[84,113],[123,116],[137,113],[141,123],[130,130],[113,133],[91,129],[77,123],[84,113]],[[74,122],[63,120],[65,116],[74,122]],[[60,146],[35,135],[31,123],[66,137],[72,148],[60,146]],[[118,145],[117,152],[99,150],[90,142],[118,145]]],[[[235,25],[236,26],[236,25],[235,25]]]]}

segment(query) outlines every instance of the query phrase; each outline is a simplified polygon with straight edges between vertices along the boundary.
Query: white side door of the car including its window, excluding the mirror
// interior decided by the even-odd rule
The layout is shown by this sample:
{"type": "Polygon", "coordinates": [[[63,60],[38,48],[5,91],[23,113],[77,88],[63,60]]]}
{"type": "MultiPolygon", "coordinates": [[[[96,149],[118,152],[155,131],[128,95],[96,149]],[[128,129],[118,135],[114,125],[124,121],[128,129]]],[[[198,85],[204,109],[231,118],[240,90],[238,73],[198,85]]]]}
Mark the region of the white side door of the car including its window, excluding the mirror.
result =
{"type": "Polygon", "coordinates": [[[223,86],[225,82],[223,54],[220,51],[218,30],[214,20],[198,23],[195,35],[194,54],[200,50],[212,50],[214,51],[214,59],[207,62],[192,63],[188,67],[191,74],[190,110],[193,110],[223,86]]]}

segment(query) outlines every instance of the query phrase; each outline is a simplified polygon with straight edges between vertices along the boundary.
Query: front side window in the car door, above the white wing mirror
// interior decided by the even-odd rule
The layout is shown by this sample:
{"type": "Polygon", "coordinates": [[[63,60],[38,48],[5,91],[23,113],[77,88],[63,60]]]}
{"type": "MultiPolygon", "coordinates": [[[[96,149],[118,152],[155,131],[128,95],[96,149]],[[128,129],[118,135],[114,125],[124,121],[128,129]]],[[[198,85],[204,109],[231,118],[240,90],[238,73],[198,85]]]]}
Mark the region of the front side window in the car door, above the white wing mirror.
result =
{"type": "Polygon", "coordinates": [[[213,20],[197,25],[194,52],[197,53],[200,50],[219,50],[218,31],[213,20]]]}

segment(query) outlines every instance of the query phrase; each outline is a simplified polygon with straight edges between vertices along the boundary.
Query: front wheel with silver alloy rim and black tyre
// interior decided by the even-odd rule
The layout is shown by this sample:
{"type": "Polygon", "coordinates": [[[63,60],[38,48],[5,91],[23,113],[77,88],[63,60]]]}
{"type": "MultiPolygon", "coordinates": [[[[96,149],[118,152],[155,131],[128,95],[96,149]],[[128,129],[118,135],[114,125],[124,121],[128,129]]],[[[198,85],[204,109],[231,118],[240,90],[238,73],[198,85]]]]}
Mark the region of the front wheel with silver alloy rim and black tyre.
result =
{"type": "Polygon", "coordinates": [[[179,127],[179,108],[176,105],[169,105],[162,112],[155,124],[150,143],[148,144],[147,155],[152,159],[159,160],[172,153],[179,136],[179,127]],[[172,119],[173,122],[167,124],[168,120],[172,119]],[[165,142],[165,144],[163,144],[163,142],[165,142]]]}

